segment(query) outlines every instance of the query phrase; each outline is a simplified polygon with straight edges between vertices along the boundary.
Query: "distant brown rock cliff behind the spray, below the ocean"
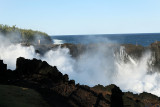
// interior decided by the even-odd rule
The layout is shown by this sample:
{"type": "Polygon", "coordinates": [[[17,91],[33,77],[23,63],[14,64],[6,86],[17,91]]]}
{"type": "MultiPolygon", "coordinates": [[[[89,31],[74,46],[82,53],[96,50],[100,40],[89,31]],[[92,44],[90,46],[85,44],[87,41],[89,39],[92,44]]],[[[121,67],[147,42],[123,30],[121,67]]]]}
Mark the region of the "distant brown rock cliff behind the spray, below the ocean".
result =
{"type": "Polygon", "coordinates": [[[152,43],[148,47],[144,47],[141,45],[133,45],[133,44],[70,44],[70,43],[65,43],[65,44],[52,44],[52,45],[34,45],[36,52],[44,54],[50,49],[56,49],[57,47],[61,48],[68,48],[70,50],[70,54],[73,57],[78,57],[81,55],[83,52],[85,52],[88,49],[96,49],[97,46],[103,45],[103,47],[109,46],[110,48],[118,48],[120,46],[125,47],[125,51],[127,52],[128,55],[133,56],[135,58],[139,58],[143,55],[144,52],[150,50],[155,54],[155,57],[158,62],[160,62],[160,41],[156,41],[155,43],[152,43]]]}

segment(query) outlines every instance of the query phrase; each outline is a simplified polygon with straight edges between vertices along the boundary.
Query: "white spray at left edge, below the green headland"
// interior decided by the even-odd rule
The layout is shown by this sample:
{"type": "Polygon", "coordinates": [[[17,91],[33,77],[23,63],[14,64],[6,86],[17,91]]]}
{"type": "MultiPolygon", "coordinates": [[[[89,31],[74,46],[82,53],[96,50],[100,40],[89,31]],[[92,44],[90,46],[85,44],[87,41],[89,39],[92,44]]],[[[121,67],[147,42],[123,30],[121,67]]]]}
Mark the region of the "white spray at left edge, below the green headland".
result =
{"type": "Polygon", "coordinates": [[[33,46],[23,47],[21,44],[0,46],[0,58],[4,60],[4,63],[7,64],[9,69],[15,69],[18,57],[32,59],[38,58],[39,55],[35,53],[33,46]]]}

